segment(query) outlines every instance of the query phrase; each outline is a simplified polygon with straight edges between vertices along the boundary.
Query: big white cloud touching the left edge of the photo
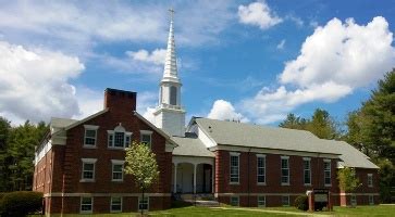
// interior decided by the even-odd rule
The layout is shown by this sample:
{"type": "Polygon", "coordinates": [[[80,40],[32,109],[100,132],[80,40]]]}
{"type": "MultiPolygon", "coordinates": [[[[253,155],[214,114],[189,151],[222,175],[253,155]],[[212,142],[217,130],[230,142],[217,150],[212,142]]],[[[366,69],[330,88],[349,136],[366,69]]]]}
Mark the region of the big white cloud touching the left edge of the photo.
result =
{"type": "Polygon", "coordinates": [[[82,71],[77,58],[0,41],[0,112],[33,122],[78,114],[70,80],[82,71]]]}

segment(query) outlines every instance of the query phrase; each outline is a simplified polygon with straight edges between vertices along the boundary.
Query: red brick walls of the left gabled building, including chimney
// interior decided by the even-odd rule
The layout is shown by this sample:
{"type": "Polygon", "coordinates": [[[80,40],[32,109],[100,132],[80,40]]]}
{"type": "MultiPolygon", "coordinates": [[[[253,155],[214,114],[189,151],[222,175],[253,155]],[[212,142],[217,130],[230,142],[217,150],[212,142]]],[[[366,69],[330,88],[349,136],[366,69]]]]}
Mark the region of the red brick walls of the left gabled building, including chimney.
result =
{"type": "MultiPolygon", "coordinates": [[[[52,193],[138,193],[139,190],[134,184],[129,175],[124,175],[123,182],[113,182],[111,159],[125,159],[124,150],[108,149],[108,132],[113,130],[120,123],[126,131],[133,132],[132,140],[139,142],[140,130],[151,130],[151,149],[157,155],[157,162],[160,170],[159,181],[153,184],[147,192],[151,193],[171,193],[171,174],[172,174],[172,153],[165,152],[165,138],[156,132],[150,126],[137,118],[133,111],[136,108],[136,94],[131,92],[116,92],[110,94],[106,91],[104,106],[108,112],[89,119],[78,126],[67,130],[66,145],[53,145],[50,157],[46,162],[40,162],[35,168],[37,171],[40,167],[49,168],[48,165],[52,158],[53,169],[51,171],[52,183],[46,186],[48,191],[51,188],[52,193]],[[97,130],[96,149],[84,149],[84,125],[99,126],[97,130]],[[82,158],[97,158],[95,164],[95,182],[81,182],[82,178],[82,158]],[[63,184],[64,181],[64,184],[63,184]],[[64,187],[63,187],[64,186],[64,187]]],[[[47,154],[47,155],[48,155],[47,154]]],[[[35,187],[39,184],[40,174],[35,173],[35,187]],[[37,175],[36,175],[37,174],[37,175]],[[36,177],[37,176],[37,177],[36,177]]],[[[39,191],[44,191],[38,189],[39,191]]],[[[137,210],[137,197],[123,197],[124,212],[137,210]]],[[[170,196],[151,197],[152,208],[170,207],[170,196]]],[[[61,196],[47,197],[47,212],[61,212],[61,196]]],[[[64,197],[64,213],[79,213],[81,197],[64,197]]],[[[109,213],[110,196],[95,196],[94,213],[109,213]]]]}

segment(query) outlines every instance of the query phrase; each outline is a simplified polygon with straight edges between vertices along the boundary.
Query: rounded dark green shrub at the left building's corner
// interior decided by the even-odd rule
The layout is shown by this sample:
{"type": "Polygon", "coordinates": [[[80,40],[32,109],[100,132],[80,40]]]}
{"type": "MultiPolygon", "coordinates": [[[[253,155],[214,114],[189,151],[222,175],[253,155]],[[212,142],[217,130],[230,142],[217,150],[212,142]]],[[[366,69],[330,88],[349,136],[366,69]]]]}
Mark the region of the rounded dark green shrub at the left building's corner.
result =
{"type": "Polygon", "coordinates": [[[26,216],[41,210],[42,193],[33,191],[15,191],[7,193],[0,201],[1,216],[26,216]]]}

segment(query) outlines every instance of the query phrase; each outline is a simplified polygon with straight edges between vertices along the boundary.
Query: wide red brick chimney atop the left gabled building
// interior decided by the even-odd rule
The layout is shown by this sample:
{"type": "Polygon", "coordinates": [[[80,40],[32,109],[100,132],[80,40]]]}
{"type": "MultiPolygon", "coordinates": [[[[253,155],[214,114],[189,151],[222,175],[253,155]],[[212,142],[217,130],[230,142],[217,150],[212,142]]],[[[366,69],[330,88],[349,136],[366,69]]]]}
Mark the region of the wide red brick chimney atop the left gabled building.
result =
{"type": "Polygon", "coordinates": [[[129,113],[136,111],[137,93],[107,88],[104,90],[104,108],[129,113]]]}

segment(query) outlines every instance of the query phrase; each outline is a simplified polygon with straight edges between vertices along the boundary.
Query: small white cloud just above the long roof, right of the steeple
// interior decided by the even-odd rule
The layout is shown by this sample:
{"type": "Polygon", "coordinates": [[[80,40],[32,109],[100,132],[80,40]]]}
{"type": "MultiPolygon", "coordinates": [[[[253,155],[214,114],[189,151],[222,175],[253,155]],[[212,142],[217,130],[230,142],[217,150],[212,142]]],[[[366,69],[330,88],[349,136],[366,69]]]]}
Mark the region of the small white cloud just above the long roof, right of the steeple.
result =
{"type": "Polygon", "coordinates": [[[217,100],[207,117],[222,120],[240,120],[243,123],[249,122],[248,118],[235,111],[232,103],[225,100],[217,100]]]}

